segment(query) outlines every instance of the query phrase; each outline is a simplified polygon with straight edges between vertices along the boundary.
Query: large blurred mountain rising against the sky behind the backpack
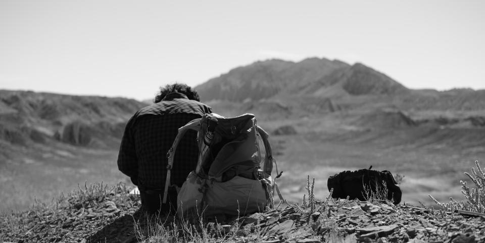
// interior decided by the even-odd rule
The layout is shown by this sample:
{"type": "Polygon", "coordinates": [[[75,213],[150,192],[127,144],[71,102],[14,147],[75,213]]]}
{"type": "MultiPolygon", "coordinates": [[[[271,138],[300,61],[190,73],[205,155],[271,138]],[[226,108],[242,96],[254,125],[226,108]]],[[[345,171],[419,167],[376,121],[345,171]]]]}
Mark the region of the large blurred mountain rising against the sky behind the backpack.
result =
{"type": "Polygon", "coordinates": [[[277,94],[396,94],[409,90],[363,64],[309,58],[268,60],[230,70],[196,87],[205,100],[258,101],[277,94]]]}

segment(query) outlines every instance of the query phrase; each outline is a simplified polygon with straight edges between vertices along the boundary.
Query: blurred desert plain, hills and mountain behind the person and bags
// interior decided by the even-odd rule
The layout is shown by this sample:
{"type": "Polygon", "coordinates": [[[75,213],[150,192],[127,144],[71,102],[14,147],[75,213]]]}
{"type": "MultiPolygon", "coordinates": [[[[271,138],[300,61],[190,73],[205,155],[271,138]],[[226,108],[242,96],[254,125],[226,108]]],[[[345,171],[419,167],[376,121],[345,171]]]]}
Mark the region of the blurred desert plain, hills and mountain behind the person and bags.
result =
{"type": "MultiPolygon", "coordinates": [[[[324,198],[330,175],[371,165],[405,176],[403,202],[461,200],[463,172],[485,158],[485,90],[409,89],[364,64],[317,58],[256,62],[196,89],[218,114],[256,115],[288,201],[301,199],[307,175],[324,198]]],[[[0,210],[48,203],[85,183],[129,184],[116,165],[119,143],[147,105],[0,90],[0,210]]]]}

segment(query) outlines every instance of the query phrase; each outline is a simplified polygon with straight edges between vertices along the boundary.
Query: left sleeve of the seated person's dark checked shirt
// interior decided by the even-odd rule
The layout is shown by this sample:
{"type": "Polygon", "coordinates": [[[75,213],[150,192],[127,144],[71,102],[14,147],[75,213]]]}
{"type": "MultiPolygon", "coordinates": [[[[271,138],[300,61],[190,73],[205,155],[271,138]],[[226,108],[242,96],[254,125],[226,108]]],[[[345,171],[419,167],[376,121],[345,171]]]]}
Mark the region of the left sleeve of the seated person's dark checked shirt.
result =
{"type": "Polygon", "coordinates": [[[121,139],[120,152],[118,154],[118,169],[123,174],[129,176],[132,181],[137,181],[138,160],[136,158],[133,131],[131,129],[134,121],[135,116],[128,121],[123,138],[121,139]]]}

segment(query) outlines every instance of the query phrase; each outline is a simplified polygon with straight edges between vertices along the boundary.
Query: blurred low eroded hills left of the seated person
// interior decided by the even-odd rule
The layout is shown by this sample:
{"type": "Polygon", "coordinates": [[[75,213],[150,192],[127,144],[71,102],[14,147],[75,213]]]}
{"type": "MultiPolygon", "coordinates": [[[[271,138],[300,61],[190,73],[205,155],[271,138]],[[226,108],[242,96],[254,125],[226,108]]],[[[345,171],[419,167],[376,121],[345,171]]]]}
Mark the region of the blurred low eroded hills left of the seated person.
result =
{"type": "Polygon", "coordinates": [[[0,90],[0,145],[113,147],[110,141],[121,138],[126,121],[143,106],[124,98],[0,90]]]}

